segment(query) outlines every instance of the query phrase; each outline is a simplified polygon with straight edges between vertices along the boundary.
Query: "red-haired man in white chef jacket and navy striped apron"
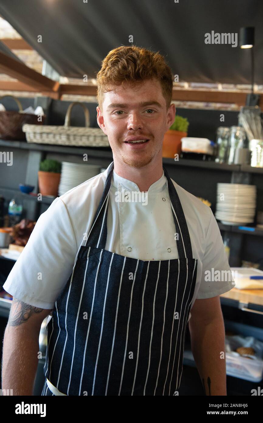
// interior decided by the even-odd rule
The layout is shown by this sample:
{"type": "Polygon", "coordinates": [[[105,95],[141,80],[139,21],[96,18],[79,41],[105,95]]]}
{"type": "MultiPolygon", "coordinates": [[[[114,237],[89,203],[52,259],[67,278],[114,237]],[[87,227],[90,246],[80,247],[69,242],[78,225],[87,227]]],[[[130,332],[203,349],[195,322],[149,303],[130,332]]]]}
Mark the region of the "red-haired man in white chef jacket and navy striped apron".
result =
{"type": "Polygon", "coordinates": [[[39,328],[53,310],[42,395],[177,395],[188,321],[206,395],[226,395],[219,294],[234,284],[205,277],[230,270],[218,225],[162,167],[171,70],[159,53],[124,46],[97,82],[113,162],[55,199],[4,284],[14,300],[3,388],[32,395],[39,328]],[[129,201],[142,192],[147,201],[129,201]]]}

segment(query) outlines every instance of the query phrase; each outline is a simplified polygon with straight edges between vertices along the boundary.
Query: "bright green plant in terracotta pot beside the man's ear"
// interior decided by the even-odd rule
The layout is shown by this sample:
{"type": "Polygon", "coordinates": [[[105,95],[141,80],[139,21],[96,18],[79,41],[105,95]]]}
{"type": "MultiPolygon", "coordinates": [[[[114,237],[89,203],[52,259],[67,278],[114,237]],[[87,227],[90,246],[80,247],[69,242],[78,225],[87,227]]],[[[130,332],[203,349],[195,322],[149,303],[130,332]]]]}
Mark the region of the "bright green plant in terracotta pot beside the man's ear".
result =
{"type": "Polygon", "coordinates": [[[187,118],[175,115],[173,125],[164,134],[162,157],[175,157],[181,153],[181,138],[187,137],[189,122],[187,118]]]}

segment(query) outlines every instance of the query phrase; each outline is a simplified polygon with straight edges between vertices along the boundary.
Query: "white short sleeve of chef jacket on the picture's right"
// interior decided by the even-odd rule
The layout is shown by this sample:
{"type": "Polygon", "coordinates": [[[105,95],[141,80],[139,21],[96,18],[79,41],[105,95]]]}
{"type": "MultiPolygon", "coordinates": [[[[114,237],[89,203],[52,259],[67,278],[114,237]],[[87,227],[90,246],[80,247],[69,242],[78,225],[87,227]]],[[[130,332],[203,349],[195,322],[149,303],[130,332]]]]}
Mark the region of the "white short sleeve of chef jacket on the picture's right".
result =
{"type": "Polygon", "coordinates": [[[230,291],[235,286],[223,239],[212,211],[205,241],[202,276],[197,299],[216,297],[230,291]]]}

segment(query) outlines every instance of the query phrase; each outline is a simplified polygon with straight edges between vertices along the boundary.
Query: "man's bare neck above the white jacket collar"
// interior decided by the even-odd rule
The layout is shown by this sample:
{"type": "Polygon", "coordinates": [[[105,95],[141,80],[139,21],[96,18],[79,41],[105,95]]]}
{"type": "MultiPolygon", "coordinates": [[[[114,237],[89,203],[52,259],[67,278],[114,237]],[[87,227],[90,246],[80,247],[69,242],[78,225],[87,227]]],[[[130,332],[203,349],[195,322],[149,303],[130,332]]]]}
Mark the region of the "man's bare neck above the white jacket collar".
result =
{"type": "Polygon", "coordinates": [[[114,162],[114,171],[122,178],[137,184],[140,192],[145,192],[148,191],[154,182],[162,177],[162,158],[161,161],[151,162],[142,168],[133,168],[123,162],[114,162]]]}

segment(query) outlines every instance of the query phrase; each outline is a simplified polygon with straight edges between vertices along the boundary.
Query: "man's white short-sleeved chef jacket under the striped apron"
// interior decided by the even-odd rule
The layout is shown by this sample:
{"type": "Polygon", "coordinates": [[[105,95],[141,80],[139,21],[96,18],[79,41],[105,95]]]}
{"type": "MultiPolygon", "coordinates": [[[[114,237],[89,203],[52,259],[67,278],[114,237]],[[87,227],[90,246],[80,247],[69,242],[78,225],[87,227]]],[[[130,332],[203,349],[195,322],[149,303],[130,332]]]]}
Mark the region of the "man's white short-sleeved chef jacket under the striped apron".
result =
{"type": "MultiPolygon", "coordinates": [[[[109,167],[56,198],[40,215],[3,285],[5,291],[27,304],[54,308],[71,275],[79,248],[85,245],[85,234],[91,229],[109,167]]],[[[215,297],[232,289],[235,283],[233,278],[223,282],[207,281],[206,270],[230,270],[219,227],[210,207],[173,179],[172,182],[183,207],[193,258],[197,259],[192,308],[195,299],[215,297]]],[[[138,201],[116,202],[115,193],[122,190],[125,193],[140,191],[137,184],[119,176],[113,169],[105,249],[144,261],[178,258],[176,229],[164,172],[149,187],[147,205],[138,201]]]]}

